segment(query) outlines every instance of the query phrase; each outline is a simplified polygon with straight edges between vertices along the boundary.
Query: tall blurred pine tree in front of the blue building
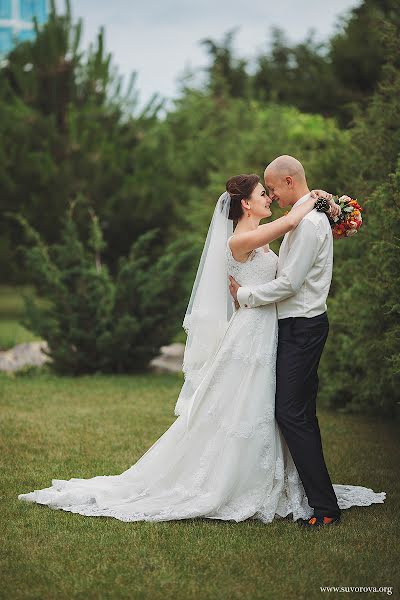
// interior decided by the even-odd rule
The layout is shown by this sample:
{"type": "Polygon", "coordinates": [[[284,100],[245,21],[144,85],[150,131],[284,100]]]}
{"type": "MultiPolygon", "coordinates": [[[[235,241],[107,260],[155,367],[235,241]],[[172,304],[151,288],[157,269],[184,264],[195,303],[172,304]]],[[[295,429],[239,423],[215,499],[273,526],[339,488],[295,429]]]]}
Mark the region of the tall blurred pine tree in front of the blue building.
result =
{"type": "MultiPolygon", "coordinates": [[[[79,50],[80,32],[68,3],[65,15],[53,4],[36,39],[18,45],[0,70],[0,211],[23,214],[52,243],[66,207],[79,197],[99,215],[105,258],[115,268],[144,231],[160,227],[160,248],[170,239],[173,199],[153,196],[148,210],[148,187],[136,185],[136,152],[160,104],[154,98],[137,112],[134,80],[123,89],[104,52],[103,32],[87,53],[79,50]]],[[[87,235],[84,217],[77,223],[87,235]]],[[[21,265],[10,268],[17,263],[18,231],[3,220],[0,233],[2,271],[24,280],[21,265]]]]}

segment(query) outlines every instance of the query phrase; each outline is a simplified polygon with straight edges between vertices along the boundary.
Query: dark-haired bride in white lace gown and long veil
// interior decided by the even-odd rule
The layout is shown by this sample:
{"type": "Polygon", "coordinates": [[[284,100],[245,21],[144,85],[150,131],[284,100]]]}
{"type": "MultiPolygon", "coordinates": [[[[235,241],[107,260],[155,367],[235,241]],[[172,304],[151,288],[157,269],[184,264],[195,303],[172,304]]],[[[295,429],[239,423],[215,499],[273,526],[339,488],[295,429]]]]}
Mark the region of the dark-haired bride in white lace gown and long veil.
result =
{"type": "MultiPolygon", "coordinates": [[[[271,199],[257,175],[228,181],[214,210],[183,322],[188,335],[178,418],[123,473],[53,479],[51,487],[20,494],[20,500],[121,521],[203,517],[269,523],[287,515],[293,520],[312,515],[274,416],[276,306],[234,306],[228,275],[241,285],[274,279],[278,257],[268,244],[294,229],[314,208],[316,197],[312,192],[288,215],[259,225],[247,260],[237,260],[230,246],[233,221],[243,225],[246,205],[256,223],[270,217],[271,199]]],[[[360,486],[334,485],[334,490],[340,508],[385,497],[360,486]]]]}

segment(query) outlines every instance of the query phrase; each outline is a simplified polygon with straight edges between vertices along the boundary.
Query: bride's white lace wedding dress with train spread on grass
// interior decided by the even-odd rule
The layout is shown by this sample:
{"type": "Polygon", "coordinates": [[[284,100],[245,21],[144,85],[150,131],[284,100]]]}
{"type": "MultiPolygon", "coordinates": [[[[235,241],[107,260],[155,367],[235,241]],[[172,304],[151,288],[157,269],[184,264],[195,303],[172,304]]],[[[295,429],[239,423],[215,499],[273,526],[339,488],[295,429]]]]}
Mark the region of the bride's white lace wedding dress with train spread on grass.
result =
{"type": "MultiPolygon", "coordinates": [[[[275,278],[278,257],[259,248],[247,262],[226,247],[228,272],[242,285],[275,278]]],[[[19,499],[121,521],[203,517],[264,523],[313,510],[274,418],[278,322],[275,304],[237,310],[196,399],[127,471],[53,479],[19,499]],[[188,425],[189,422],[189,425],[188,425]]],[[[203,373],[204,374],[204,373],[203,373]]],[[[334,485],[339,507],[382,503],[385,492],[334,485]]]]}

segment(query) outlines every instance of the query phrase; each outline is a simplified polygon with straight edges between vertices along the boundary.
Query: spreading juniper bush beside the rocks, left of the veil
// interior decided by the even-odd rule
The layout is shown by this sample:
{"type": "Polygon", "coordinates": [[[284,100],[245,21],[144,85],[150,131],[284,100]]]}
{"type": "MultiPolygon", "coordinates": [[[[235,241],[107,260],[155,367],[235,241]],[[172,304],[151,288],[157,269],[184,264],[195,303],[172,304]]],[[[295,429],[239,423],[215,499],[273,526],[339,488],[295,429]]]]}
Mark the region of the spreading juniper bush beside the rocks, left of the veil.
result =
{"type": "Polygon", "coordinates": [[[58,373],[136,372],[147,368],[176,332],[185,303],[182,273],[193,246],[179,240],[154,258],[158,232],[140,236],[122,258],[115,278],[101,262],[104,240],[91,213],[88,239],[80,239],[73,206],[59,243],[46,245],[21,216],[31,248],[26,266],[46,303],[25,297],[28,329],[48,342],[58,373]],[[189,249],[188,249],[189,248],[189,249]]]}

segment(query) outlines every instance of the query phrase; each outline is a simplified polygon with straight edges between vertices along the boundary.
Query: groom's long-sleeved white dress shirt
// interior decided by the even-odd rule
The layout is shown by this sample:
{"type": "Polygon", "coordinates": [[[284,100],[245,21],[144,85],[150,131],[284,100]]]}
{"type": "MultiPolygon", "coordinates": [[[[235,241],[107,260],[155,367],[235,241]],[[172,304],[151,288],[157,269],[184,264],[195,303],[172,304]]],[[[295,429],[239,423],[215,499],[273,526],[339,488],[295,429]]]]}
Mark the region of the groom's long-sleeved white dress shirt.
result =
{"type": "MultiPolygon", "coordinates": [[[[306,194],[292,208],[307,200],[306,194]]],[[[326,311],[332,281],[333,236],[326,215],[309,212],[283,238],[274,281],[257,287],[240,287],[241,307],[277,302],[278,318],[316,317],[326,311]]]]}

